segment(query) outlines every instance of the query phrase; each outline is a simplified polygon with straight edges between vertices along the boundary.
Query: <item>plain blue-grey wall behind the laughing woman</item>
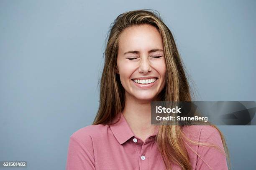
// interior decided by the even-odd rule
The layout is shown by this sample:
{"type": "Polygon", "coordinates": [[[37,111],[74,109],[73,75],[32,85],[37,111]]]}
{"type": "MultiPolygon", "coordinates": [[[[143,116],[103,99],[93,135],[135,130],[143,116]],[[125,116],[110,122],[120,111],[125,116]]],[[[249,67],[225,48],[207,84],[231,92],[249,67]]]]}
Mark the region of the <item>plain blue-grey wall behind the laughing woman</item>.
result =
{"type": "MultiPolygon", "coordinates": [[[[254,0],[0,0],[0,160],[65,168],[70,135],[97,112],[110,23],[148,8],[173,32],[199,101],[256,101],[254,0]]],[[[255,169],[256,126],[219,128],[233,170],[255,169]]]]}

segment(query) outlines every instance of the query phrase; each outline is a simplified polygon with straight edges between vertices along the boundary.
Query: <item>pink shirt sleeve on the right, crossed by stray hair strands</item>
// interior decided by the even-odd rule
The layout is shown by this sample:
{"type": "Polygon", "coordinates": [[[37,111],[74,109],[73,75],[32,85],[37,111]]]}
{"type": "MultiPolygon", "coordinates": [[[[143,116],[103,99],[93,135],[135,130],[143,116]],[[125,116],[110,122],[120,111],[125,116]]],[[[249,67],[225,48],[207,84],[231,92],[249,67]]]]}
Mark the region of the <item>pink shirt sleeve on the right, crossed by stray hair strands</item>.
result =
{"type": "MultiPolygon", "coordinates": [[[[216,128],[204,126],[200,132],[200,143],[216,145],[224,153],[220,133],[216,128]]],[[[196,170],[228,170],[226,156],[217,148],[198,146],[196,170]]]]}

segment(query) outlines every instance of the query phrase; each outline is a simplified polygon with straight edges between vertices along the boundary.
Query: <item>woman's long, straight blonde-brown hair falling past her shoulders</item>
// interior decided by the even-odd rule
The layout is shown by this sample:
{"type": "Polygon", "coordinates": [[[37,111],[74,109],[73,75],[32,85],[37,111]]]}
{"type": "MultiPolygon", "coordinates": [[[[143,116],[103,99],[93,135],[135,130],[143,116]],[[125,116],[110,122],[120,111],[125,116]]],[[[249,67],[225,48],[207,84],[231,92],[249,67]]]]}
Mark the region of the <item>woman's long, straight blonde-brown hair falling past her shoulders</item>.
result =
{"type": "MultiPolygon", "coordinates": [[[[114,117],[123,111],[125,105],[125,90],[120,82],[119,76],[115,73],[118,38],[125,28],[142,24],[154,26],[159,30],[163,39],[166,83],[159,94],[160,101],[192,101],[189,83],[174,37],[172,32],[162,21],[160,15],[155,13],[155,10],[128,11],[118,15],[108,32],[108,42],[104,52],[105,63],[100,80],[100,105],[93,125],[110,124],[114,117]]],[[[230,167],[229,153],[224,136],[216,126],[211,126],[216,128],[220,133],[225,150],[224,154],[228,158],[228,165],[230,167]]],[[[197,143],[189,140],[184,135],[181,125],[160,125],[156,142],[167,170],[172,169],[172,163],[179,165],[182,170],[192,169],[184,141],[195,145],[216,147],[211,144],[197,143]]]]}

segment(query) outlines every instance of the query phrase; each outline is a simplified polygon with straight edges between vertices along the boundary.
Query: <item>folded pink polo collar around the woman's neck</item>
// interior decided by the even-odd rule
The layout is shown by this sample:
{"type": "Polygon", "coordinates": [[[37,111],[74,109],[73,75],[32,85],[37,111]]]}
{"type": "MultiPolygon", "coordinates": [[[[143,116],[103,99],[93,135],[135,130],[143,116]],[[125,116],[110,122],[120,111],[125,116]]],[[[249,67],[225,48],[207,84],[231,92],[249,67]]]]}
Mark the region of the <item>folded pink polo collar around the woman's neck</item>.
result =
{"type": "MultiPolygon", "coordinates": [[[[119,116],[121,116],[120,120],[113,125],[109,125],[109,127],[110,127],[113,135],[115,136],[115,138],[120,143],[120,145],[122,145],[123,143],[125,143],[127,140],[129,140],[130,138],[132,138],[135,135],[134,135],[133,131],[131,130],[130,126],[128,125],[127,120],[123,116],[122,112],[120,112],[118,115],[115,116],[113,122],[116,122],[118,120],[119,116]]],[[[157,131],[158,131],[158,128],[157,128],[157,131]]],[[[156,136],[157,131],[154,133],[153,136],[156,136]]]]}

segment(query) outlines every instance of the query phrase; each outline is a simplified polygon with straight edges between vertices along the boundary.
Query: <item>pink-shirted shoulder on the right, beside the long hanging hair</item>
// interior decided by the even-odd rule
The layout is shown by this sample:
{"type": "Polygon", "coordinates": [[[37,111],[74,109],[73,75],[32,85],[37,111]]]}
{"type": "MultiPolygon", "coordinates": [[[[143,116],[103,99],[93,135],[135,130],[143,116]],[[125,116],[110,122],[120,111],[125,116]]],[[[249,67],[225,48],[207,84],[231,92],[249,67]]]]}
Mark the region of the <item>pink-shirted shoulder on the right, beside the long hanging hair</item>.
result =
{"type": "Polygon", "coordinates": [[[195,169],[228,170],[220,131],[210,125],[183,127],[184,134],[196,143],[187,143],[186,148],[195,169]]]}

